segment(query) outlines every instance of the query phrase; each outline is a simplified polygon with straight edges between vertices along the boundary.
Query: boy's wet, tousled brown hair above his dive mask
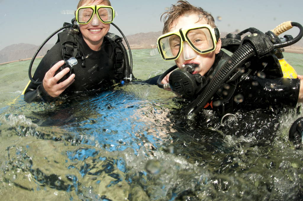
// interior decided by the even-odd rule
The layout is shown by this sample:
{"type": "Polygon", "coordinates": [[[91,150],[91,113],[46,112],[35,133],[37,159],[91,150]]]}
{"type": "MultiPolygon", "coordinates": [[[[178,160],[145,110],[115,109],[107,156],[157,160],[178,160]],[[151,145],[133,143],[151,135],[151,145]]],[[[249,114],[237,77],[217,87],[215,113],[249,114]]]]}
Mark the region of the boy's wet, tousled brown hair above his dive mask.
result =
{"type": "Polygon", "coordinates": [[[162,34],[167,33],[173,21],[178,19],[180,16],[185,14],[192,14],[192,13],[197,13],[199,15],[198,21],[202,20],[203,18],[206,18],[208,25],[211,25],[212,28],[216,27],[215,19],[209,12],[205,11],[201,7],[195,7],[190,3],[188,3],[187,1],[179,0],[176,5],[171,5],[171,8],[168,12],[164,12],[161,15],[161,20],[163,17],[163,21],[164,21],[162,34]]]}

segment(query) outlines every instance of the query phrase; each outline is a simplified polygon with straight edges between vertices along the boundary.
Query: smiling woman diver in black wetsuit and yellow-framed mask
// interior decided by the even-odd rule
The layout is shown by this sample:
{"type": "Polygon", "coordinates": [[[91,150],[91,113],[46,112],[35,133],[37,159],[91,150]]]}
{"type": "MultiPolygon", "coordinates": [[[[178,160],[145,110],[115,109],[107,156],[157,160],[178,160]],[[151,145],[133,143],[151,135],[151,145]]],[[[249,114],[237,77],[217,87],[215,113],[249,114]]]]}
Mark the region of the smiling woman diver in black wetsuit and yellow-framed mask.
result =
{"type": "Polygon", "coordinates": [[[109,0],[80,0],[75,12],[78,25],[73,23],[58,34],[57,43],[42,58],[25,88],[24,100],[49,102],[63,94],[123,83],[128,56],[123,52],[122,38],[108,33],[114,18],[109,0]]]}

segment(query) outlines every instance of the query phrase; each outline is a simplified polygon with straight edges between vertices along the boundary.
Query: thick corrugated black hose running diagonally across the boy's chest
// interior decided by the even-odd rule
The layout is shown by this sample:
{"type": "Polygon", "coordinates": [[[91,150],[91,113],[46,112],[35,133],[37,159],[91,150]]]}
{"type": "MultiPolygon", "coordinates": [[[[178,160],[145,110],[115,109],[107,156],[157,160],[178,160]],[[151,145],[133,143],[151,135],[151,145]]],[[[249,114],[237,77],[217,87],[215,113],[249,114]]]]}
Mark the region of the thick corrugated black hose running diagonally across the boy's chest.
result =
{"type": "Polygon", "coordinates": [[[250,42],[243,44],[231,55],[222,68],[215,74],[204,91],[185,108],[185,114],[189,119],[194,118],[214,96],[222,84],[227,81],[231,74],[236,71],[249,58],[255,56],[255,48],[250,42]]]}

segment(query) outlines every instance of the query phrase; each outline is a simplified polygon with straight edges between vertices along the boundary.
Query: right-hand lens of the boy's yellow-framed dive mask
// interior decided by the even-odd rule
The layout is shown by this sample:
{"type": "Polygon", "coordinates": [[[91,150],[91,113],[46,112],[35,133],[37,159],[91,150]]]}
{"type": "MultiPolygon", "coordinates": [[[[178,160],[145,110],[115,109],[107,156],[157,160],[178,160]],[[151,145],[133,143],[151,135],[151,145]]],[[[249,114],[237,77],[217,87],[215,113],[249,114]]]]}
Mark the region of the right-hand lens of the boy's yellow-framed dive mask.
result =
{"type": "Polygon", "coordinates": [[[215,50],[215,41],[208,28],[189,29],[186,32],[186,39],[196,51],[208,53],[215,50]]]}

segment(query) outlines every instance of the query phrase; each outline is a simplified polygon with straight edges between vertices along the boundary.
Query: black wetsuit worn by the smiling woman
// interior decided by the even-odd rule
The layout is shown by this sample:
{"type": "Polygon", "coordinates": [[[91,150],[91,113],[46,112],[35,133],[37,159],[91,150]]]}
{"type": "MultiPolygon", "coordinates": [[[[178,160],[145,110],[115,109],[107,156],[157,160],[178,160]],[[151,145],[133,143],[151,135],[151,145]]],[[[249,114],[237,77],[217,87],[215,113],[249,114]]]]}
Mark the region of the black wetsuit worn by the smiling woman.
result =
{"type": "MultiPolygon", "coordinates": [[[[63,31],[59,34],[61,38],[68,34],[70,31],[63,31]],[[62,35],[60,35],[62,34],[62,35]]],[[[99,51],[93,51],[85,43],[82,34],[76,35],[79,49],[85,58],[85,66],[82,66],[81,58],[77,57],[78,64],[74,65],[75,81],[65,89],[62,94],[75,93],[79,91],[92,91],[99,90],[113,84],[114,80],[117,80],[117,74],[114,70],[115,62],[115,48],[117,44],[108,38],[104,37],[101,49],[99,51]]],[[[63,60],[62,44],[58,41],[42,58],[42,61],[38,65],[33,79],[36,81],[42,81],[45,73],[51,68],[54,62],[63,60]]],[[[26,102],[32,101],[53,101],[51,97],[44,90],[42,84],[37,85],[32,82],[25,90],[24,100],[26,102]]]]}

